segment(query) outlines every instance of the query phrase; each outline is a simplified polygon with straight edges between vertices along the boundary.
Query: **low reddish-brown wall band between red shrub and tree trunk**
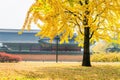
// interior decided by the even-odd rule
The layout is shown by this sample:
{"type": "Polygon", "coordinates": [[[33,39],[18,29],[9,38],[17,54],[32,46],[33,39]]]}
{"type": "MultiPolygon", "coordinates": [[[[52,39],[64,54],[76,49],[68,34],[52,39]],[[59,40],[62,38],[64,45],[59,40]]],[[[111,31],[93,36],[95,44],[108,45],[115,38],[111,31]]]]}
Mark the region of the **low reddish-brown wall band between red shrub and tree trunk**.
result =
{"type": "MultiPolygon", "coordinates": [[[[25,61],[55,61],[56,55],[47,54],[16,54],[25,61]]],[[[81,61],[82,55],[58,55],[59,61],[81,61]]]]}

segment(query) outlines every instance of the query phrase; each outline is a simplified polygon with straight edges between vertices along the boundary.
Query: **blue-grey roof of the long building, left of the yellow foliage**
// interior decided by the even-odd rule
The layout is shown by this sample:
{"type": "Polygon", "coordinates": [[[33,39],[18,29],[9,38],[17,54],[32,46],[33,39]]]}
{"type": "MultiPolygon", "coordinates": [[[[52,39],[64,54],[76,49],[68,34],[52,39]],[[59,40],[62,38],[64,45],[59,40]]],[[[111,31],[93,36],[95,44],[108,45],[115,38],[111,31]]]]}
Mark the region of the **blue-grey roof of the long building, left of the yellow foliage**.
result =
{"type": "Polygon", "coordinates": [[[19,31],[19,29],[0,29],[0,42],[38,43],[39,37],[35,36],[38,30],[25,30],[22,35],[18,35],[19,31]]]}

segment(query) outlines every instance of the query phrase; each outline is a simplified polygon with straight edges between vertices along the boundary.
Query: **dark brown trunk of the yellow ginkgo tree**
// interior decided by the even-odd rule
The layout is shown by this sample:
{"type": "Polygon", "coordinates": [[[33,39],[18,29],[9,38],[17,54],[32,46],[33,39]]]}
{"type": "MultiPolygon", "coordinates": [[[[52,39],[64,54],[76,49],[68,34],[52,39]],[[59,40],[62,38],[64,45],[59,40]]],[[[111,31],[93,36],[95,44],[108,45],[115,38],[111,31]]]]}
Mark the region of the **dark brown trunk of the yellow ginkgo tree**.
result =
{"type": "Polygon", "coordinates": [[[82,66],[91,66],[90,63],[90,38],[89,38],[89,31],[90,27],[85,27],[84,28],[84,54],[83,54],[83,61],[82,61],[82,66]]]}

